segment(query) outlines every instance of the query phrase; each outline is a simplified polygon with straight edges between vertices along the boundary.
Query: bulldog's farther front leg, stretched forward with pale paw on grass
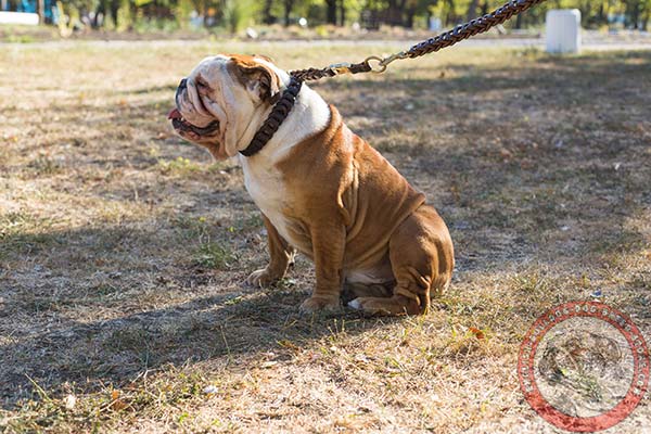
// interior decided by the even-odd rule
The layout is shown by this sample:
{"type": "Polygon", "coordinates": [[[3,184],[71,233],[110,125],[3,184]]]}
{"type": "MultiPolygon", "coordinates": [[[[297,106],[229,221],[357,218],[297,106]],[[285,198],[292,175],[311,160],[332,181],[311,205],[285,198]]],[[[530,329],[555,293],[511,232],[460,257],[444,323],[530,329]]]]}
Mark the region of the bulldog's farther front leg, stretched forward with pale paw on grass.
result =
{"type": "Polygon", "coordinates": [[[288,267],[294,259],[294,248],[278,233],[276,227],[263,214],[265,228],[269,238],[269,264],[267,267],[256,270],[248,276],[246,283],[254,286],[269,286],[284,278],[288,267]]]}

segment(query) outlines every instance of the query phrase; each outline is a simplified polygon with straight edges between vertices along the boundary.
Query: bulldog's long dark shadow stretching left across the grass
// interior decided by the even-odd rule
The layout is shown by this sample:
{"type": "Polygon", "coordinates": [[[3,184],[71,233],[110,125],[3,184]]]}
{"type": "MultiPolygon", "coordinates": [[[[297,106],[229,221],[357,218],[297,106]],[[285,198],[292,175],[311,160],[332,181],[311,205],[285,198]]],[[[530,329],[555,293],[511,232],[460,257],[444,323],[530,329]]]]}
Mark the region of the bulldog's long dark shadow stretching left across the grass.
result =
{"type": "MultiPolygon", "coordinates": [[[[84,231],[87,232],[88,229],[84,231]]],[[[135,233],[131,237],[138,238],[135,233]]],[[[49,272],[64,271],[62,267],[49,272]]],[[[288,356],[288,346],[308,347],[342,329],[350,335],[404,320],[365,318],[349,309],[302,315],[298,306],[309,295],[307,285],[288,280],[270,289],[243,284],[224,289],[219,271],[204,272],[208,276],[195,276],[196,270],[188,270],[188,276],[180,280],[192,281],[186,281],[178,290],[188,293],[177,294],[178,304],[166,303],[162,308],[135,311],[133,304],[128,303],[130,314],[116,316],[106,312],[100,298],[97,303],[87,302],[89,306],[97,305],[99,318],[108,318],[93,321],[65,318],[63,312],[76,301],[46,296],[50,293],[49,283],[47,289],[34,288],[29,296],[26,289],[17,289],[24,296],[8,299],[0,316],[24,315],[27,310],[42,316],[50,311],[55,322],[44,329],[39,327],[40,331],[35,333],[4,336],[0,345],[0,408],[10,409],[21,399],[33,398],[33,382],[52,396],[64,394],[72,385],[77,392],[92,393],[108,385],[123,387],[143,372],[157,369],[182,369],[210,360],[216,367],[224,367],[268,354],[282,358],[288,356]],[[193,289],[201,295],[192,294],[193,289]]],[[[49,279],[56,280],[53,276],[49,279]]],[[[130,292],[133,294],[130,297],[151,296],[146,291],[150,290],[130,292]]],[[[68,311],[73,318],[78,314],[76,308],[68,311]]]]}

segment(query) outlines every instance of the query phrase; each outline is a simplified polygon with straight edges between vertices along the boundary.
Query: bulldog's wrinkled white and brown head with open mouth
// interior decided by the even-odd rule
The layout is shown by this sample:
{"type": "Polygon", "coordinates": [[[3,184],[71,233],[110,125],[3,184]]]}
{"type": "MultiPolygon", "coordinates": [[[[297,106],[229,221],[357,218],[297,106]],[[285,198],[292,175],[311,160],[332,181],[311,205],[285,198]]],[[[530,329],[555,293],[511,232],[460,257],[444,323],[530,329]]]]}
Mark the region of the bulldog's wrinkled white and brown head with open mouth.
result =
{"type": "Polygon", "coordinates": [[[248,145],[286,80],[267,58],[206,58],[181,80],[168,117],[179,136],[224,159],[248,145]]]}

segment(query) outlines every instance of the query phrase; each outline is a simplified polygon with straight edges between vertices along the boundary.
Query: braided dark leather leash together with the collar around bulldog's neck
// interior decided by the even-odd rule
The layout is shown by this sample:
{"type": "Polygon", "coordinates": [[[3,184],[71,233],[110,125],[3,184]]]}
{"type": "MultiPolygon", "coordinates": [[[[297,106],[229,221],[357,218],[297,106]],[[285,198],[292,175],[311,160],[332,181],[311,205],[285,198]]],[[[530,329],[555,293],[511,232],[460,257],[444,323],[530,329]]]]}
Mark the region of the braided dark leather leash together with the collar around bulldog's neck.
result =
{"type": "Polygon", "coordinates": [[[253,156],[257,154],[267,144],[271,137],[278,131],[282,122],[288,117],[290,111],[294,106],[296,97],[301,91],[303,81],[314,81],[326,77],[335,77],[342,74],[359,74],[359,73],[383,73],[386,66],[393,61],[399,59],[420,58],[443,48],[454,46],[457,42],[468,39],[471,36],[482,34],[490,27],[502,24],[513,15],[518,15],[527,9],[544,2],[545,0],[511,0],[505,3],[495,11],[487,13],[484,16],[472,20],[469,23],[459,25],[451,30],[445,31],[433,38],[412,46],[407,51],[392,54],[387,58],[371,55],[359,63],[337,63],[324,68],[307,68],[290,72],[291,80],[288,88],[283,91],[280,100],[273,105],[271,113],[257,130],[253,140],[246,149],[240,151],[244,156],[253,156]],[[371,62],[376,62],[375,66],[371,62]]]}

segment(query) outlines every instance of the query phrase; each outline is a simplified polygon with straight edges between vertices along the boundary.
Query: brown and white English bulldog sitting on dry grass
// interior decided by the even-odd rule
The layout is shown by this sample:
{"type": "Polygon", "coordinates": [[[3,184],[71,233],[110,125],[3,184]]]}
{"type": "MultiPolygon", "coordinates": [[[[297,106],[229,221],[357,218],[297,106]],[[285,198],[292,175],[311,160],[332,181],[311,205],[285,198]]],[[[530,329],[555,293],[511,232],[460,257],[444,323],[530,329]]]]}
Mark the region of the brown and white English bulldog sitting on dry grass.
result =
{"type": "Polygon", "coordinates": [[[298,251],[316,269],[304,312],[340,309],[343,292],[349,307],[369,315],[426,312],[451,279],[448,229],[334,106],[303,85],[270,140],[244,155],[290,78],[264,56],[207,58],[181,81],[169,114],[183,139],[217,159],[240,161],[270,255],[247,283],[283,278],[298,251]]]}

